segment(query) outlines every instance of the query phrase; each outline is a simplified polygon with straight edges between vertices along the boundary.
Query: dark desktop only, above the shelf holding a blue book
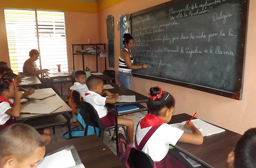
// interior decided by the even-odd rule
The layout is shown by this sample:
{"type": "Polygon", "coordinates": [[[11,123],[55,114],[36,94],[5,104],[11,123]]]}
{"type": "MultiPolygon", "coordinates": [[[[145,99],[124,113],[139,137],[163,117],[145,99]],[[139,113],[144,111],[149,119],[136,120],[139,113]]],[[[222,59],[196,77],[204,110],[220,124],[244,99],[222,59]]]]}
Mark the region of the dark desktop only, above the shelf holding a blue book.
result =
{"type": "Polygon", "coordinates": [[[107,89],[109,92],[111,93],[117,93],[121,96],[121,95],[135,95],[136,97],[136,102],[115,102],[113,105],[119,106],[119,105],[128,105],[128,104],[138,104],[138,103],[144,103],[144,102],[148,102],[148,97],[144,96],[140,93],[134,92],[130,89],[126,89],[125,87],[122,87],[120,85],[119,89],[118,88],[118,84],[114,84],[114,83],[107,83],[110,84],[111,86],[113,86],[113,89],[107,89]]]}

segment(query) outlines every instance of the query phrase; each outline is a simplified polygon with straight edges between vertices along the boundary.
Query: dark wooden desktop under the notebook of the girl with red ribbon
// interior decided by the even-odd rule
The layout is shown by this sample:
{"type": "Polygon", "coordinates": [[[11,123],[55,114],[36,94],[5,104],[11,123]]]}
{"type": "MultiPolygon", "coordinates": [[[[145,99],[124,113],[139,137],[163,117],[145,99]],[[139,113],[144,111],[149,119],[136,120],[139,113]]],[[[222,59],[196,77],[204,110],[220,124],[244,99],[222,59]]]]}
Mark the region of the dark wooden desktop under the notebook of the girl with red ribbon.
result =
{"type": "MultiPolygon", "coordinates": [[[[168,124],[181,123],[190,120],[191,117],[191,115],[185,113],[174,115],[168,124]]],[[[237,141],[241,138],[240,134],[225,130],[225,132],[204,137],[204,142],[201,145],[178,142],[174,147],[203,167],[225,168],[228,154],[234,149],[237,141]]]]}

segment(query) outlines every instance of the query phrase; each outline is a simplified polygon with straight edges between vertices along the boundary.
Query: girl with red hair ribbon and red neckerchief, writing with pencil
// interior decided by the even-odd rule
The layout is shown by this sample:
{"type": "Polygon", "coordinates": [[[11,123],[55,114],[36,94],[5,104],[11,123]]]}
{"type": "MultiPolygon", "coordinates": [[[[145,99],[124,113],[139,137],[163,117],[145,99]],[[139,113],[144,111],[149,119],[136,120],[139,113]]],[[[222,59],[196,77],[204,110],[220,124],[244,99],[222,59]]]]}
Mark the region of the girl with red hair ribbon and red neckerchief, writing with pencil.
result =
{"type": "Polygon", "coordinates": [[[193,133],[184,132],[167,124],[172,118],[175,106],[175,100],[171,94],[159,87],[152,87],[149,95],[150,114],[138,123],[134,146],[147,153],[157,168],[186,167],[168,154],[169,144],[174,146],[179,141],[200,145],[203,143],[201,132],[192,122],[185,124],[184,127],[193,133]]]}

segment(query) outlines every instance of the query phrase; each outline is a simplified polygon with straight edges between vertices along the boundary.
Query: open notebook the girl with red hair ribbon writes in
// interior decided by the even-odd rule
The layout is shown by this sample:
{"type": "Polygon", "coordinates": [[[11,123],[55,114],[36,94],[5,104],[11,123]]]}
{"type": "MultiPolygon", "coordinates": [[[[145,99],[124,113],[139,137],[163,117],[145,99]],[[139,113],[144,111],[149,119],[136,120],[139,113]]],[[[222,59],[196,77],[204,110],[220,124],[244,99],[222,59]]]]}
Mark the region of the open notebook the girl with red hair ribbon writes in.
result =
{"type": "MultiPolygon", "coordinates": [[[[216,127],[212,124],[209,124],[203,120],[200,120],[199,118],[191,120],[191,122],[195,125],[196,128],[201,128],[199,131],[201,131],[203,136],[210,136],[216,133],[224,132],[225,130],[219,127],[216,127]]],[[[180,130],[183,130],[185,132],[192,133],[192,131],[188,128],[184,128],[183,125],[186,123],[186,121],[183,121],[182,123],[176,123],[171,124],[172,127],[179,128],[180,130]]]]}

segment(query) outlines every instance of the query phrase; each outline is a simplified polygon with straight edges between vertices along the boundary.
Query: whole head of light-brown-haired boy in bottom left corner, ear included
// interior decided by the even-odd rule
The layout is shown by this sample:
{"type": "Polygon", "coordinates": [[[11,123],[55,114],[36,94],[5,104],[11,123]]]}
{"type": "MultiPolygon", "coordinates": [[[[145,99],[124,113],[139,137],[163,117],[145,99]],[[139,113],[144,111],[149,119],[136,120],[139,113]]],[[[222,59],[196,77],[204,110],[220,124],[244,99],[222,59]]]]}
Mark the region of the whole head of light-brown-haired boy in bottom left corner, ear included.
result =
{"type": "Polygon", "coordinates": [[[36,168],[44,154],[44,141],[31,126],[14,124],[0,132],[0,168],[36,168]]]}

